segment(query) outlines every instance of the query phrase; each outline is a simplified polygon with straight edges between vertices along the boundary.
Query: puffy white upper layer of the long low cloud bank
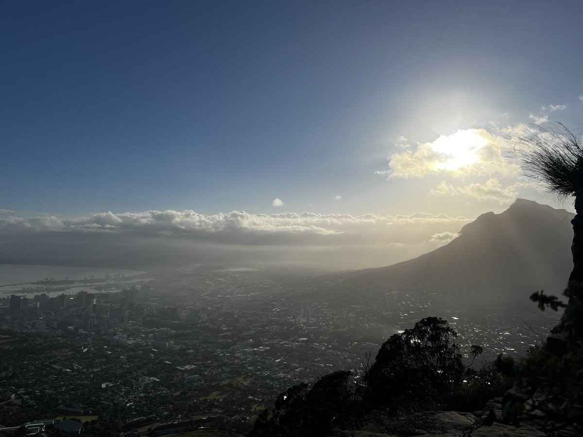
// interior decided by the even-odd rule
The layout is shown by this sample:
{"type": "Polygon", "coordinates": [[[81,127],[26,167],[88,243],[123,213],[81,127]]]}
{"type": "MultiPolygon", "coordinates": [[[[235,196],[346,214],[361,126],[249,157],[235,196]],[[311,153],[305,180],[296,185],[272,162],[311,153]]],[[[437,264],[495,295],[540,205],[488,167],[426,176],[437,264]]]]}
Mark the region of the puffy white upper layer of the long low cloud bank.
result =
{"type": "Polygon", "coordinates": [[[421,244],[438,232],[458,232],[469,221],[466,217],[423,212],[396,216],[238,211],[206,215],[192,210],[167,210],[105,212],[77,218],[0,217],[0,235],[106,232],[149,237],[180,235],[217,244],[421,244]]]}

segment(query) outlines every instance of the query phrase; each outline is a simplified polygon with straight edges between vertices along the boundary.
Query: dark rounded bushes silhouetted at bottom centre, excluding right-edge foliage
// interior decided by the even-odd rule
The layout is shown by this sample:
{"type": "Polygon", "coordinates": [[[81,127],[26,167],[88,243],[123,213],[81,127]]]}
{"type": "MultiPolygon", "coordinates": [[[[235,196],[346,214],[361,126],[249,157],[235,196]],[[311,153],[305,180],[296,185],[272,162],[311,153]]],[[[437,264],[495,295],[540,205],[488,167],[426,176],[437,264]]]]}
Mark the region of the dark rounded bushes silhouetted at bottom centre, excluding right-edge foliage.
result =
{"type": "Polygon", "coordinates": [[[251,437],[335,435],[361,429],[375,417],[423,410],[476,411],[499,396],[510,380],[493,363],[472,368],[482,348],[472,346],[463,363],[447,322],[426,318],[382,344],[372,364],[323,376],[279,395],[275,408],[259,415],[251,437]]]}

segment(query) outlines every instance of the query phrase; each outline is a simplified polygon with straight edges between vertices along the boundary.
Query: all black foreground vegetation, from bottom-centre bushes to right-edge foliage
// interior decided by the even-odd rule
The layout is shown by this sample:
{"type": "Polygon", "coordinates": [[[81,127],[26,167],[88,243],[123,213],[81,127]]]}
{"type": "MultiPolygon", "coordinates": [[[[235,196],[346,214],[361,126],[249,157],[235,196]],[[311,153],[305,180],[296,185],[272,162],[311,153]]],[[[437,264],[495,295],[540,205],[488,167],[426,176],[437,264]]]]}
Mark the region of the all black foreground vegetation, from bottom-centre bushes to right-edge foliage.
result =
{"type": "Polygon", "coordinates": [[[428,410],[478,412],[479,428],[479,412],[503,395],[505,423],[518,426],[536,417],[545,431],[577,432],[583,424],[583,287],[573,282],[564,295],[567,303],[543,292],[532,295],[541,309],[565,313],[547,344],[521,360],[500,355],[475,368],[481,347],[472,346],[471,362],[464,363],[447,322],[423,319],[385,341],[372,364],[287,389],[259,415],[250,437],[335,436],[347,429],[390,434],[392,419],[428,410]]]}

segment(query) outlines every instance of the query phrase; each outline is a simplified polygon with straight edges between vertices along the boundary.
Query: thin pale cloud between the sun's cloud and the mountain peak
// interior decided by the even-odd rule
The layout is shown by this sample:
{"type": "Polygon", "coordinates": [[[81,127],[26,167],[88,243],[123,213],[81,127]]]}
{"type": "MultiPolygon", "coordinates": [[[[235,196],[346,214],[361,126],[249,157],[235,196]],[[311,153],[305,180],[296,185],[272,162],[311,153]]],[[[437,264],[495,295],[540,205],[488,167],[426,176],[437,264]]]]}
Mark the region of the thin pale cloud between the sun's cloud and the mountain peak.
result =
{"type": "Polygon", "coordinates": [[[505,205],[518,196],[518,185],[503,186],[497,178],[488,179],[484,184],[475,182],[467,186],[454,186],[441,182],[429,192],[432,196],[465,195],[479,202],[505,205]]]}

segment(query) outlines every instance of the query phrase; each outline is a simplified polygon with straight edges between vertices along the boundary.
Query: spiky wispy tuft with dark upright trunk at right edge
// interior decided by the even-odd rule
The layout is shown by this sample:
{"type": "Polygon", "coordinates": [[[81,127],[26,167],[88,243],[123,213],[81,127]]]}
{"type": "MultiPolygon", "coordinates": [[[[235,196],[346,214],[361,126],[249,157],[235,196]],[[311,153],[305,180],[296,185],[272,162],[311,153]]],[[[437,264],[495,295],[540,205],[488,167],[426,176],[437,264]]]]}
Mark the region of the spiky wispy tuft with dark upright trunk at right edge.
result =
{"type": "Polygon", "coordinates": [[[575,198],[573,271],[569,281],[583,282],[583,147],[562,123],[545,129],[535,126],[530,135],[518,136],[514,147],[525,175],[540,181],[560,199],[575,198]]]}

